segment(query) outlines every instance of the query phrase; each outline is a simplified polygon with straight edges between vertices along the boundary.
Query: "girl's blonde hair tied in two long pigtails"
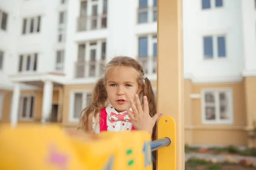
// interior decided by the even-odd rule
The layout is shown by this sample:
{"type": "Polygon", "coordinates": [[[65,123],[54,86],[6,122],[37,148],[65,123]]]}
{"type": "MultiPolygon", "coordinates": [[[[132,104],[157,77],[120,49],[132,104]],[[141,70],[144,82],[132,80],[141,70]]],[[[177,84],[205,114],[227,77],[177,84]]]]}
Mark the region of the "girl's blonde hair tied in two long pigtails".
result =
{"type": "MultiPolygon", "coordinates": [[[[154,91],[151,86],[151,82],[148,78],[143,79],[144,71],[140,63],[131,57],[114,57],[106,66],[103,77],[99,78],[96,82],[96,85],[93,88],[93,94],[91,98],[90,104],[84,108],[84,110],[80,114],[79,119],[79,129],[84,131],[87,130],[87,121],[90,113],[100,113],[100,111],[108,105],[108,95],[105,89],[106,76],[108,75],[108,71],[117,68],[119,66],[126,66],[137,71],[137,82],[139,85],[142,85],[142,89],[140,91],[139,97],[140,102],[143,105],[143,96],[147,96],[148,106],[149,106],[149,114],[150,116],[154,116],[157,113],[157,105],[156,98],[154,95],[154,91]]],[[[96,114],[94,114],[96,118],[96,114]]],[[[155,139],[155,130],[156,125],[153,128],[152,139],[155,139]]]]}

